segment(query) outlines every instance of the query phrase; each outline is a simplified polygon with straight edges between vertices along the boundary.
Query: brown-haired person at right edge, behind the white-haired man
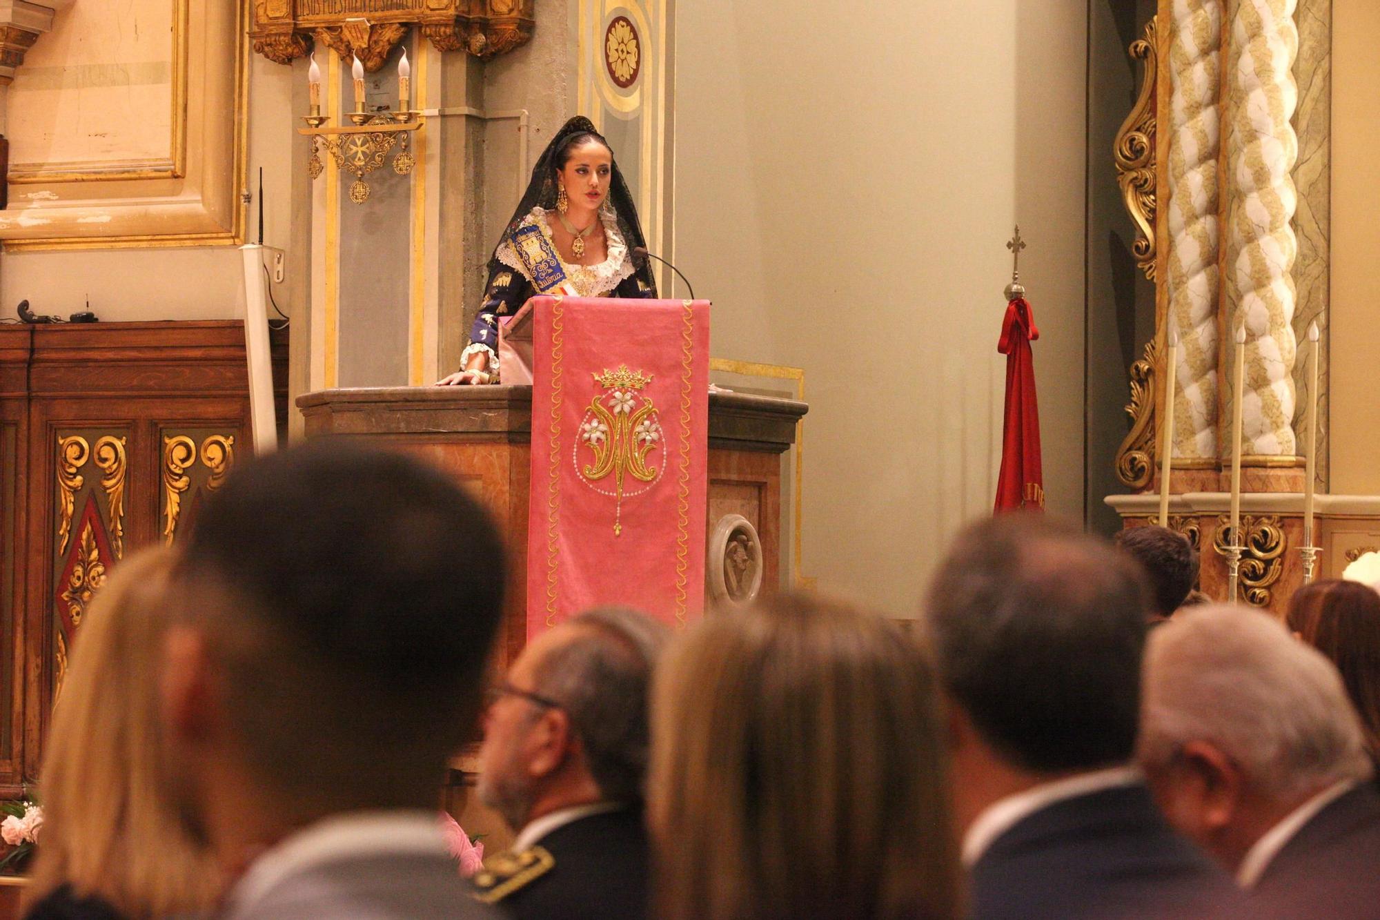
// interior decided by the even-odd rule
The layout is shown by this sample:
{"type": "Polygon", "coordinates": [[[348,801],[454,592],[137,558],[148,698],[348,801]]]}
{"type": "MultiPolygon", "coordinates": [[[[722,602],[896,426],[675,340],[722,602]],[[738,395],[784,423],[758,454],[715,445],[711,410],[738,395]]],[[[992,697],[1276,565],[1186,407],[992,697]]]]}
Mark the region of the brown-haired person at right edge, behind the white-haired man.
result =
{"type": "Polygon", "coordinates": [[[1380,760],[1380,594],[1359,582],[1314,582],[1294,591],[1286,622],[1341,671],[1370,760],[1380,760]]]}

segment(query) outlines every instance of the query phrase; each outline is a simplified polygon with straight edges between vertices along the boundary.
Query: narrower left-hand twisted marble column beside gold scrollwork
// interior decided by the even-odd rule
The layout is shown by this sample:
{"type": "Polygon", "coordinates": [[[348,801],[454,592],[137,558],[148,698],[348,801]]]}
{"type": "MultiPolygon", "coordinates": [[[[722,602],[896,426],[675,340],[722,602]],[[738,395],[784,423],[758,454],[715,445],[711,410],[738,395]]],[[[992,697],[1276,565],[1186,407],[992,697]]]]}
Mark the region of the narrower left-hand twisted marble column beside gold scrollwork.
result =
{"type": "Polygon", "coordinates": [[[1180,348],[1174,457],[1217,456],[1221,0],[1174,0],[1169,46],[1169,315],[1180,348]]]}

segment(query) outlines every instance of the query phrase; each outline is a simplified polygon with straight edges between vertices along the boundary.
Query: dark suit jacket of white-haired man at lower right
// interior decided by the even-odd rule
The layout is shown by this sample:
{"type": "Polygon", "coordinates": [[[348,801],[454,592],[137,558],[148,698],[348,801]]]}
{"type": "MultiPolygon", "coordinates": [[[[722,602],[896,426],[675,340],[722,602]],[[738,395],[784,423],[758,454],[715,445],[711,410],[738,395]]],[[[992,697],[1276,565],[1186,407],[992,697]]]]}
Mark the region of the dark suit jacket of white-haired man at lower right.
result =
{"type": "Polygon", "coordinates": [[[1299,829],[1252,891],[1257,916],[1380,919],[1380,794],[1366,783],[1299,829]]]}

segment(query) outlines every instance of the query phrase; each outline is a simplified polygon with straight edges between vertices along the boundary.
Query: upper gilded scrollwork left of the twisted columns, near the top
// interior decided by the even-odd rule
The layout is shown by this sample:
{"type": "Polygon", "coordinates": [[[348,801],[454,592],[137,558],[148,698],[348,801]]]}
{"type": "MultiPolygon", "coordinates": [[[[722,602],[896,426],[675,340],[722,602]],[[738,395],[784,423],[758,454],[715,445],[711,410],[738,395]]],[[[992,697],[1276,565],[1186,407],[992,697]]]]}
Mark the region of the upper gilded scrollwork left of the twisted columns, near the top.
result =
{"type": "Polygon", "coordinates": [[[1132,221],[1136,242],[1132,251],[1145,278],[1155,280],[1155,73],[1156,19],[1145,23],[1145,35],[1130,44],[1130,57],[1141,62],[1140,95],[1116,131],[1114,159],[1116,184],[1132,221]]]}

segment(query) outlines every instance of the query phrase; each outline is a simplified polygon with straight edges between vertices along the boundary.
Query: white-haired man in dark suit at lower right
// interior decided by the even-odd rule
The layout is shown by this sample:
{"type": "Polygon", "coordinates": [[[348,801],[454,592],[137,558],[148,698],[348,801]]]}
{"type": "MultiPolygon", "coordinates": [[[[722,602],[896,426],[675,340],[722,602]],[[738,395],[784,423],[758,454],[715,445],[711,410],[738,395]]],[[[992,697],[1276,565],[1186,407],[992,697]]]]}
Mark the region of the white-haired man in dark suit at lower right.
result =
{"type": "Polygon", "coordinates": [[[1380,797],[1322,655],[1256,611],[1185,611],[1150,640],[1141,732],[1165,814],[1254,890],[1257,916],[1376,916],[1380,797]]]}

